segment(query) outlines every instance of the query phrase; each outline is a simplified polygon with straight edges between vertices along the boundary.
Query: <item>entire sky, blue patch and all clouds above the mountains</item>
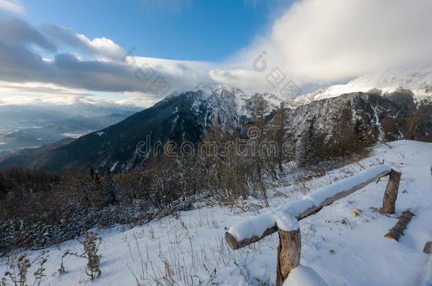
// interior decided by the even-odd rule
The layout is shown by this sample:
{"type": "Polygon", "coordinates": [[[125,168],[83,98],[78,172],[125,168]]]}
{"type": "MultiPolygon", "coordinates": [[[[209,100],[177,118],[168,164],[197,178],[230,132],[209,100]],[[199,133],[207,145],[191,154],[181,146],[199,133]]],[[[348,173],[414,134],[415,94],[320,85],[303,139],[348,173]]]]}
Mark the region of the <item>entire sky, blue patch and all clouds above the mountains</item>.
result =
{"type": "Polygon", "coordinates": [[[297,96],[429,65],[430,0],[0,0],[0,104],[149,107],[199,83],[297,96]]]}

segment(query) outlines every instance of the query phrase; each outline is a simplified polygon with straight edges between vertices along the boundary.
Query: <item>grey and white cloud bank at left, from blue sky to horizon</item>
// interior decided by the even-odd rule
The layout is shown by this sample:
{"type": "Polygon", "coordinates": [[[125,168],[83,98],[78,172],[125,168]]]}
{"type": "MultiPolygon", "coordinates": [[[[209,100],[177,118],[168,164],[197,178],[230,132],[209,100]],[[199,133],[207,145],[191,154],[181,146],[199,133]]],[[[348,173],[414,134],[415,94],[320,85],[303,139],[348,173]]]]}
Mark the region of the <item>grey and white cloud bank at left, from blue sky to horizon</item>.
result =
{"type": "Polygon", "coordinates": [[[37,28],[11,16],[0,16],[0,26],[0,97],[9,102],[11,94],[13,102],[91,102],[91,94],[103,93],[113,102],[149,106],[184,85],[209,81],[208,63],[138,57],[103,37],[37,28]],[[161,81],[164,93],[154,88],[161,81]]]}

